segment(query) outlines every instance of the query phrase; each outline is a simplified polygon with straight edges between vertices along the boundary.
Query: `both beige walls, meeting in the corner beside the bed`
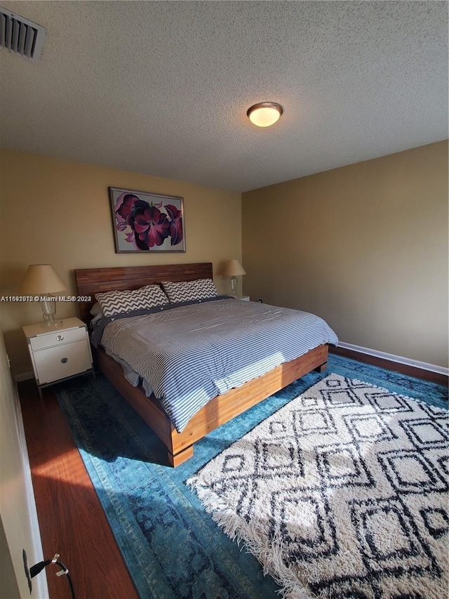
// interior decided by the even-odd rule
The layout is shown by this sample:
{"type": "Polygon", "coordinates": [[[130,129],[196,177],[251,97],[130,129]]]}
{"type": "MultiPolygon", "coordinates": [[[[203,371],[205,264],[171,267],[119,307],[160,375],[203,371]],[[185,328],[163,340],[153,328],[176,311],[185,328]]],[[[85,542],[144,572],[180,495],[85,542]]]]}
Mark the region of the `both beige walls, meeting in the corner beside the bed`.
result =
{"type": "MultiPolygon", "coordinates": [[[[251,298],[322,315],[341,341],[448,365],[448,144],[236,192],[4,150],[0,295],[30,263],[74,268],[241,258],[251,298]],[[115,254],[108,186],[185,199],[185,254],[115,254]],[[242,203],[242,209],[241,209],[242,203]],[[243,223],[243,231],[242,231],[243,223]]],[[[23,324],[39,305],[0,303],[14,374],[31,369],[23,324]]],[[[76,306],[58,304],[58,315],[76,306]]]]}

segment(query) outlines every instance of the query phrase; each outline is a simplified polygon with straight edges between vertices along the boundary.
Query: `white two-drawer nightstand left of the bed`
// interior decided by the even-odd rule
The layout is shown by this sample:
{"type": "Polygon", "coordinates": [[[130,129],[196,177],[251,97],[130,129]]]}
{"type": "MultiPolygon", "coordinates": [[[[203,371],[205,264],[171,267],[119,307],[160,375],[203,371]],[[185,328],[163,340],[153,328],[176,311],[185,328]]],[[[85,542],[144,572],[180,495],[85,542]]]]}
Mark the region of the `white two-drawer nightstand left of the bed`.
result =
{"type": "Polygon", "coordinates": [[[58,327],[30,324],[23,327],[23,332],[40,397],[42,387],[86,372],[93,373],[88,330],[79,318],[65,318],[58,327]]]}

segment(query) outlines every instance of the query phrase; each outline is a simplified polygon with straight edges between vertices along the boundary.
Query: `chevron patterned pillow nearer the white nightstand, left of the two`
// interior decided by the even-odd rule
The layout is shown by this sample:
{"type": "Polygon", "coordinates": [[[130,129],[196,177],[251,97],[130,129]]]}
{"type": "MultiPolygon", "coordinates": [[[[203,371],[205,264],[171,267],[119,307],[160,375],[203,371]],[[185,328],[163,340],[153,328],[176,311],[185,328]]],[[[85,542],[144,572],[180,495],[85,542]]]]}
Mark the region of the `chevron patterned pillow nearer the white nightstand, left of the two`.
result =
{"type": "Polygon", "coordinates": [[[157,308],[168,303],[168,297],[159,285],[147,285],[133,291],[105,291],[95,294],[105,316],[115,316],[133,310],[157,308]]]}

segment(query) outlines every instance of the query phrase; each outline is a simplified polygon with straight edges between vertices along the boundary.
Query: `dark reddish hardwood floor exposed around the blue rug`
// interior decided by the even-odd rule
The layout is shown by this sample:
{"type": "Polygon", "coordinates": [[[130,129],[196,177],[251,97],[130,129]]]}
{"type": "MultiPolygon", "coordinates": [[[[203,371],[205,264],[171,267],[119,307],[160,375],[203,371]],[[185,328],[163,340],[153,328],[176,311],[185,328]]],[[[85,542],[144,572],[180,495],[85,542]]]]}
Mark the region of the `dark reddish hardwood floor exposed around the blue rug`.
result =
{"type": "MultiPolygon", "coordinates": [[[[330,350],[448,385],[448,377],[441,374],[342,348],[330,350]]],[[[71,574],[76,599],[138,598],[55,394],[46,388],[43,399],[39,399],[34,381],[20,383],[18,388],[44,558],[60,553],[71,574]]],[[[65,577],[56,577],[52,567],[47,567],[46,573],[50,598],[69,598],[65,577]]]]}

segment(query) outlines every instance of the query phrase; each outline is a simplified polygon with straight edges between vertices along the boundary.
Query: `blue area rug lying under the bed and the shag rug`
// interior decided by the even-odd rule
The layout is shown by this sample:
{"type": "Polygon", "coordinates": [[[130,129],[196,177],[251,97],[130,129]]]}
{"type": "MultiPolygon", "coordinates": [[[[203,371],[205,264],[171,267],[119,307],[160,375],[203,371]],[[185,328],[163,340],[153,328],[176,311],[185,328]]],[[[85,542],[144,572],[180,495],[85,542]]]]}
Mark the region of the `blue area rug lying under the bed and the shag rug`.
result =
{"type": "Polygon", "coordinates": [[[185,481],[210,459],[330,372],[448,406],[448,390],[330,355],[312,372],[195,444],[192,459],[161,466],[166,451],[103,377],[60,383],[56,395],[142,598],[264,599],[279,586],[213,522],[185,481]]]}

